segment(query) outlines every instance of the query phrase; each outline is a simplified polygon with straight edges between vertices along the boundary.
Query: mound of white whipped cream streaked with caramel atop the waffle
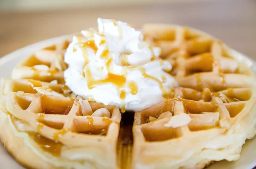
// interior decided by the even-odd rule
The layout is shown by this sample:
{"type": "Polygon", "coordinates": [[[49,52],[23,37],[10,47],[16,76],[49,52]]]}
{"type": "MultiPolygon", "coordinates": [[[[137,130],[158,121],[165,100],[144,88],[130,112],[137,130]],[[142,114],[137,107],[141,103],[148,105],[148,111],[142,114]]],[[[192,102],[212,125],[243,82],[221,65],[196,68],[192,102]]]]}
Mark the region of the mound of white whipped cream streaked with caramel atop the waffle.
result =
{"type": "Polygon", "coordinates": [[[74,36],[65,53],[66,85],[89,101],[140,111],[164,100],[177,85],[160,48],[127,23],[98,18],[99,32],[74,36]]]}

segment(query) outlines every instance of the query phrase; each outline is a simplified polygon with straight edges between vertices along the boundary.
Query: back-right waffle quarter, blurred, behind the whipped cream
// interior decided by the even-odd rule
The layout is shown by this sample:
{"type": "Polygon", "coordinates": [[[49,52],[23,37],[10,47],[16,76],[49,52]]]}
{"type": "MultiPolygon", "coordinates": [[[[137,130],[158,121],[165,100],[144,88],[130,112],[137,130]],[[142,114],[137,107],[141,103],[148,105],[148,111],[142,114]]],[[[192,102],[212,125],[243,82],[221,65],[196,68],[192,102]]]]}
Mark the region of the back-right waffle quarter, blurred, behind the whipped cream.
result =
{"type": "Polygon", "coordinates": [[[204,32],[183,26],[147,24],[143,33],[145,40],[161,47],[161,57],[172,64],[170,73],[182,87],[220,91],[255,86],[251,71],[239,64],[220,40],[204,32]]]}

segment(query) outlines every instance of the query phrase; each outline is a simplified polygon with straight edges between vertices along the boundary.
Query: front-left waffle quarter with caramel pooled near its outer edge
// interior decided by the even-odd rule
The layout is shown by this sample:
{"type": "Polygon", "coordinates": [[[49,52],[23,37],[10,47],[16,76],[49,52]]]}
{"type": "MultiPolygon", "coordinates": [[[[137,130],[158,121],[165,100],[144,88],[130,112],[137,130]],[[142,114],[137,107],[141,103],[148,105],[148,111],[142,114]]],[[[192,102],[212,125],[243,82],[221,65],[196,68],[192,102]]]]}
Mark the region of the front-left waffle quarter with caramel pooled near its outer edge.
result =
{"type": "Polygon", "coordinates": [[[35,82],[45,83],[1,83],[0,138],[12,156],[28,168],[116,168],[119,109],[55,96],[58,84],[48,83],[57,92],[43,95],[35,82]]]}

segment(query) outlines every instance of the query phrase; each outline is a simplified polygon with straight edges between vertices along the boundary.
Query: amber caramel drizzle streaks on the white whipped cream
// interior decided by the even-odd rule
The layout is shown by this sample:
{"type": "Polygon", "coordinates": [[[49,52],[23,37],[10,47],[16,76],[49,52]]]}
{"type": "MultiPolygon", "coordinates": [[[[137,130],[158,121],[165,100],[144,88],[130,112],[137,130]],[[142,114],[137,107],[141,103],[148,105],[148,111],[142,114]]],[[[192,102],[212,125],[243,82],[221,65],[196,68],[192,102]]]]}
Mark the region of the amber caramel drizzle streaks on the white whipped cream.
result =
{"type": "MultiPolygon", "coordinates": [[[[118,26],[115,20],[111,20],[111,22],[115,26],[118,26]]],[[[122,39],[122,30],[121,30],[121,26],[118,26],[118,27],[119,27],[118,29],[119,29],[120,40],[121,40],[122,39]]],[[[100,36],[104,36],[104,35],[100,35],[100,36]]],[[[102,45],[105,42],[106,42],[105,40],[101,40],[100,45],[102,45]]],[[[94,80],[94,78],[93,78],[93,76],[90,72],[90,69],[86,66],[89,63],[87,47],[93,49],[95,53],[98,50],[97,46],[95,45],[94,39],[91,38],[91,39],[87,40],[84,43],[79,42],[79,43],[77,43],[77,45],[79,45],[81,47],[82,52],[83,52],[83,56],[84,56],[83,77],[86,78],[86,80],[87,80],[88,89],[91,90],[91,89],[93,89],[93,87],[99,86],[99,85],[104,84],[104,83],[112,83],[113,85],[118,87],[120,99],[124,100],[125,95],[126,95],[125,90],[124,90],[124,86],[125,86],[125,83],[126,83],[125,75],[116,75],[116,74],[108,73],[103,80],[94,80]]],[[[152,54],[151,60],[155,60],[156,57],[154,55],[153,48],[150,44],[149,44],[149,49],[151,50],[151,54],[152,54]]],[[[73,48],[73,52],[76,52],[75,48],[73,48]]],[[[105,49],[102,52],[100,57],[104,60],[107,60],[106,63],[105,63],[106,68],[108,69],[108,72],[111,72],[109,69],[110,69],[110,66],[111,66],[112,58],[110,57],[109,50],[105,49]]],[[[161,82],[158,78],[156,78],[154,76],[151,76],[149,74],[146,74],[145,68],[137,67],[137,66],[129,66],[129,63],[127,62],[126,54],[121,54],[121,64],[122,64],[122,66],[125,66],[127,68],[126,74],[128,73],[128,71],[137,69],[141,72],[143,77],[156,81],[160,85],[160,90],[163,94],[163,97],[165,97],[165,98],[169,97],[169,93],[166,91],[166,89],[163,86],[163,83],[166,82],[166,77],[162,76],[163,82],[161,82]]],[[[160,64],[163,65],[163,60],[160,60],[160,64]]],[[[137,92],[138,92],[138,88],[137,88],[136,83],[134,83],[134,82],[128,83],[128,90],[130,91],[130,93],[132,95],[136,95],[137,92]]],[[[125,111],[125,106],[122,106],[122,112],[123,111],[125,111]]]]}

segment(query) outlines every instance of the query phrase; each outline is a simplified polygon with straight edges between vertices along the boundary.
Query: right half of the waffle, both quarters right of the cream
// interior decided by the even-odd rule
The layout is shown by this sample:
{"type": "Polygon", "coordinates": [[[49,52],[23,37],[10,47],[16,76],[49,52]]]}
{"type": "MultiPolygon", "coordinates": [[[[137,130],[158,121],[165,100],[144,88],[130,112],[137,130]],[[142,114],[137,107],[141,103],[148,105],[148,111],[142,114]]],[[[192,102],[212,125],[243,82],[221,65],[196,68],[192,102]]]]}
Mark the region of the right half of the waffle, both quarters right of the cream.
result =
{"type": "Polygon", "coordinates": [[[179,88],[135,113],[133,167],[202,169],[237,160],[256,134],[255,78],[221,41],[182,26],[148,24],[145,40],[160,46],[179,88]]]}

